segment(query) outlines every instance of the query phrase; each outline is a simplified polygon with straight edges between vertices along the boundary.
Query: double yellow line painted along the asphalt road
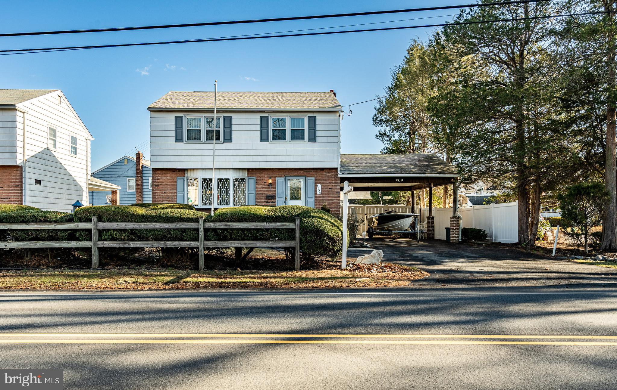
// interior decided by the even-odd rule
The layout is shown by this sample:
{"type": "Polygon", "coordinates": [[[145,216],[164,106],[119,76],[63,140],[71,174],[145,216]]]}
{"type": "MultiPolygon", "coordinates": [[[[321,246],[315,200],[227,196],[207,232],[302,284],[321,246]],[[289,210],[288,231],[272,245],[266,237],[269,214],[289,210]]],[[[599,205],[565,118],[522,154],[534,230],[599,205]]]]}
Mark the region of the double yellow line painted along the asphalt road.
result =
{"type": "Polygon", "coordinates": [[[0,333],[0,344],[498,344],[617,346],[617,336],[272,333],[0,333]],[[154,339],[153,339],[154,338],[154,339]],[[458,339],[458,340],[457,340],[458,339]],[[540,339],[541,341],[536,341],[540,339]],[[561,341],[549,341],[561,340],[561,341]],[[577,340],[577,341],[574,341],[577,340]],[[594,340],[594,341],[581,341],[594,340]],[[615,340],[615,341],[595,341],[615,340]]]}

